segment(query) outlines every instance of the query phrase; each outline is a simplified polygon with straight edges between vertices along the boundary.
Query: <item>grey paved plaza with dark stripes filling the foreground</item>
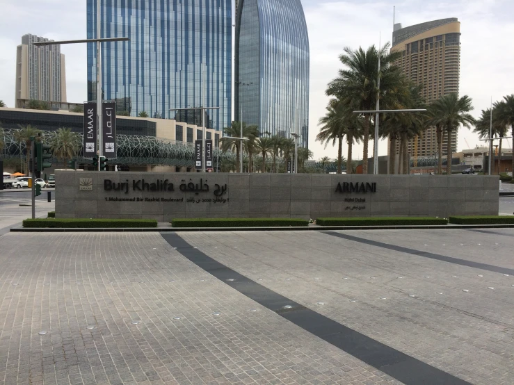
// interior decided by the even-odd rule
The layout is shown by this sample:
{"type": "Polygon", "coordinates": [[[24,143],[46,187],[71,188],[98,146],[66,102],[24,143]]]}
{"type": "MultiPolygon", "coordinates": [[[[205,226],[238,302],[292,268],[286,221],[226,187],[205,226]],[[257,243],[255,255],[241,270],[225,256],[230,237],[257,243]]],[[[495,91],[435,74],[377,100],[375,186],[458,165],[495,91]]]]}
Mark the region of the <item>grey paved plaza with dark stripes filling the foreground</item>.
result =
{"type": "Polygon", "coordinates": [[[0,236],[0,384],[514,384],[513,229],[0,236]]]}

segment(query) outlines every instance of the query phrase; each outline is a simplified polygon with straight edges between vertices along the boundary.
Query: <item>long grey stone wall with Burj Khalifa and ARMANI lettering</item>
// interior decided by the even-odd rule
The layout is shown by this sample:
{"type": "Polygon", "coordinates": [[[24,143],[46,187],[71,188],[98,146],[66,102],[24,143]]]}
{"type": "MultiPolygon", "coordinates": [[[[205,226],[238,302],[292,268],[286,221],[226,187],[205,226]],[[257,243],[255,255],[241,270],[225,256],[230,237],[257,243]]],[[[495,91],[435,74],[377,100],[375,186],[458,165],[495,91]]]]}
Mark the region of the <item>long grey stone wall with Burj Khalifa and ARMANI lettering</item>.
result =
{"type": "Polygon", "coordinates": [[[497,215],[498,177],[56,172],[57,218],[497,215]]]}

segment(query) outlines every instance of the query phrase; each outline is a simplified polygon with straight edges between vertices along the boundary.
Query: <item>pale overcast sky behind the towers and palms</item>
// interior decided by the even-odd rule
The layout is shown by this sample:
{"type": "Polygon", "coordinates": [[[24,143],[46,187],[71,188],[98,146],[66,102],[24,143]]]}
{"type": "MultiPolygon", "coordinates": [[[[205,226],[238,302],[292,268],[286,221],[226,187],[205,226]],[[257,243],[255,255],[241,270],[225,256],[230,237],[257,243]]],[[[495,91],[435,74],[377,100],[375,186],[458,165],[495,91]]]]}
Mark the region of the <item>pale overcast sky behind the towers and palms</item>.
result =
{"type": "MultiPolygon", "coordinates": [[[[280,1],[280,0],[277,0],[280,1]]],[[[390,42],[393,6],[396,22],[403,26],[434,19],[457,17],[462,33],[460,95],[469,95],[474,115],[493,101],[514,93],[513,0],[302,0],[310,38],[310,148],[314,158],[337,156],[336,149],[315,142],[317,122],[325,113],[326,84],[341,67],[338,56],[344,47],[358,49],[390,42]]],[[[33,33],[54,40],[86,37],[86,0],[0,0],[0,100],[15,103],[16,46],[22,35],[33,33]]],[[[66,55],[67,99],[81,102],[87,97],[86,45],[61,48],[66,55]]],[[[462,129],[458,149],[480,145],[478,137],[462,129]]],[[[380,143],[380,155],[387,153],[380,143]]],[[[344,147],[346,153],[346,146],[344,147]]],[[[370,150],[371,151],[371,150],[370,150]]],[[[362,157],[362,151],[354,157],[362,157]]]]}

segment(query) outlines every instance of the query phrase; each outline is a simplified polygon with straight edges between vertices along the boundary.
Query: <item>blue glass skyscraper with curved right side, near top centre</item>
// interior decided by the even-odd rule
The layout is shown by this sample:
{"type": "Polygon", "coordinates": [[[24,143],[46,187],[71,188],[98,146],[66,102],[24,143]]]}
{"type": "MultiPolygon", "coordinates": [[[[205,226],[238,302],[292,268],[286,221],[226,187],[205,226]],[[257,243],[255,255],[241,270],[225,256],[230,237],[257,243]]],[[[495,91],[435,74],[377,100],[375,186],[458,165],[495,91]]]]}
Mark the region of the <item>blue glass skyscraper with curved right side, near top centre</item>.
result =
{"type": "Polygon", "coordinates": [[[300,0],[239,0],[235,120],[309,141],[309,37],[300,0]]]}

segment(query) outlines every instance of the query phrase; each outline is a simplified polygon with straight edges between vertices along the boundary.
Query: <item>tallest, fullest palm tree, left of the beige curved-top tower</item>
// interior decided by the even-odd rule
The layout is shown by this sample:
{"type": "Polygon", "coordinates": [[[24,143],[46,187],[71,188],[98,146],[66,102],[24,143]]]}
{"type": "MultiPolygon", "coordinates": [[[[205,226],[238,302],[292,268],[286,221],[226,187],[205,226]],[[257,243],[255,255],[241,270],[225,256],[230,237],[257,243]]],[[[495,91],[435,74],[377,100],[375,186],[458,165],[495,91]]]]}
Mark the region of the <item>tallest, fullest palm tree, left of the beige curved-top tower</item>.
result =
{"type": "MultiPolygon", "coordinates": [[[[387,101],[395,96],[394,90],[399,82],[403,81],[401,69],[392,65],[394,60],[401,57],[401,52],[389,53],[389,43],[380,50],[374,45],[364,51],[359,47],[357,51],[346,47],[339,60],[346,69],[339,69],[339,76],[328,84],[327,95],[335,96],[351,106],[353,110],[371,110],[376,106],[377,97],[387,101]],[[380,74],[378,61],[380,60],[380,74]],[[378,76],[380,76],[380,95],[378,92],[378,76]]],[[[362,172],[368,172],[368,142],[369,129],[373,116],[364,117],[364,138],[362,172]]]]}

